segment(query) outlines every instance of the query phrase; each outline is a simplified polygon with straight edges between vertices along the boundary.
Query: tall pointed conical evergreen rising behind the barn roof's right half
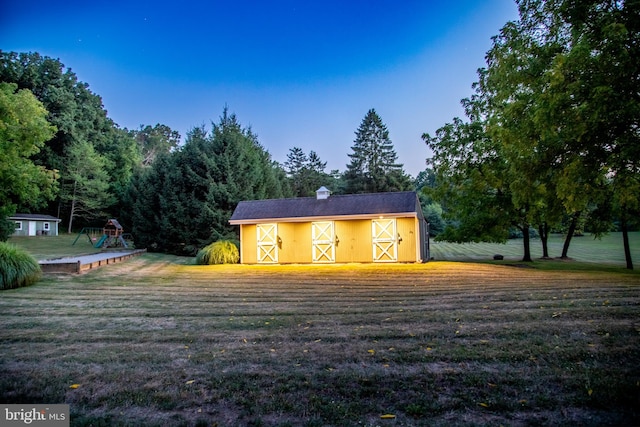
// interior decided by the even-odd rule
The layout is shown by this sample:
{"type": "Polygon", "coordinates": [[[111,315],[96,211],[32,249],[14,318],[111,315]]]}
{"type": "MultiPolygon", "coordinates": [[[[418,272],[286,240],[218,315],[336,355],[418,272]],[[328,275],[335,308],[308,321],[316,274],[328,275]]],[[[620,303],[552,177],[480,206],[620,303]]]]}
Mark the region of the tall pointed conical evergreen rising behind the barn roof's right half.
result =
{"type": "Polygon", "coordinates": [[[374,109],[367,112],[356,131],[344,174],[347,193],[378,193],[411,189],[389,139],[389,131],[374,109]]]}

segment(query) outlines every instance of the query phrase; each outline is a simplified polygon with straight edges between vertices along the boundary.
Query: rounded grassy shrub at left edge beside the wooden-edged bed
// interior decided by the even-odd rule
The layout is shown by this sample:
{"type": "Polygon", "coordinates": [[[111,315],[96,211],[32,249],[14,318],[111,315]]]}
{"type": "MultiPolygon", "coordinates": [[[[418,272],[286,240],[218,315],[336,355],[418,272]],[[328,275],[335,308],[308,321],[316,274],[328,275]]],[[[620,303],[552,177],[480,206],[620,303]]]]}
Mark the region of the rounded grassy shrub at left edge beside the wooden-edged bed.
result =
{"type": "Polygon", "coordinates": [[[0,289],[33,285],[42,270],[34,257],[9,243],[0,242],[0,289]]]}

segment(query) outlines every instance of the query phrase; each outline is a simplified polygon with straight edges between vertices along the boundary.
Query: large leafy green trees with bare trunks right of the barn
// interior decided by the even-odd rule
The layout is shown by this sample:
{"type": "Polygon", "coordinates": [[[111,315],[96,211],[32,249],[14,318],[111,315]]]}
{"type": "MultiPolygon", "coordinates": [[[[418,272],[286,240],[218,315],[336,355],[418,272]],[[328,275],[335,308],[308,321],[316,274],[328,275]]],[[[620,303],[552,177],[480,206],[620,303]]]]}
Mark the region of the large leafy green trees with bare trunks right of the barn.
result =
{"type": "Polygon", "coordinates": [[[502,242],[511,228],[580,224],[628,230],[640,217],[640,2],[520,0],[455,118],[423,139],[436,175],[430,194],[449,219],[442,239],[502,242]]]}

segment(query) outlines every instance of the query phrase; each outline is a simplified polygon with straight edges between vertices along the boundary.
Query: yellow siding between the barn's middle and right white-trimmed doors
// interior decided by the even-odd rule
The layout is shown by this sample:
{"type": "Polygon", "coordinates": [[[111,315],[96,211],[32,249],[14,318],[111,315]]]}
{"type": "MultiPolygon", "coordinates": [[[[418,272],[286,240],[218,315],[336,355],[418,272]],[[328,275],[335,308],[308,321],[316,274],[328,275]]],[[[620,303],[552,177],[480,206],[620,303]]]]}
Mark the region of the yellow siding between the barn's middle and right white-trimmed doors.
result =
{"type": "Polygon", "coordinates": [[[371,220],[335,222],[336,262],[372,262],[371,220]]]}

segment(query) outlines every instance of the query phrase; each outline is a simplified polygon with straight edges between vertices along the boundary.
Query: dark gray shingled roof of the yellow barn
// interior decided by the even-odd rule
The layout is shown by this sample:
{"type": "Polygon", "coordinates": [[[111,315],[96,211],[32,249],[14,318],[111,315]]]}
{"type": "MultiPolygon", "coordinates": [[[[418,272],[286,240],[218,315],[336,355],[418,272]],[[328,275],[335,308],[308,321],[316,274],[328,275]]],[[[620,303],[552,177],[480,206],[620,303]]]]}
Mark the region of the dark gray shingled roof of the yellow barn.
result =
{"type": "Polygon", "coordinates": [[[259,222],[264,219],[302,219],[336,216],[377,216],[415,214],[422,218],[418,196],[414,191],[369,193],[294,199],[250,200],[238,203],[229,222],[231,224],[259,222]]]}

